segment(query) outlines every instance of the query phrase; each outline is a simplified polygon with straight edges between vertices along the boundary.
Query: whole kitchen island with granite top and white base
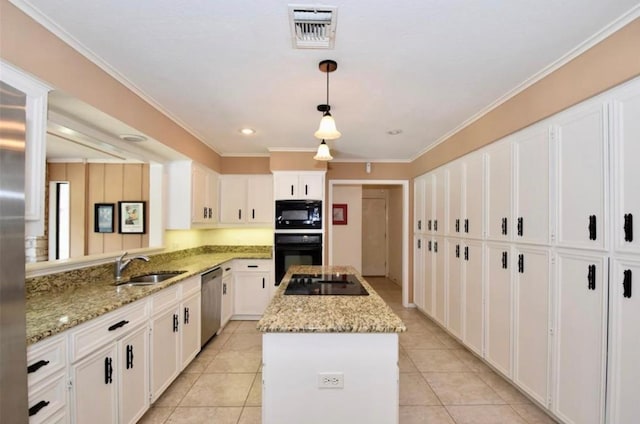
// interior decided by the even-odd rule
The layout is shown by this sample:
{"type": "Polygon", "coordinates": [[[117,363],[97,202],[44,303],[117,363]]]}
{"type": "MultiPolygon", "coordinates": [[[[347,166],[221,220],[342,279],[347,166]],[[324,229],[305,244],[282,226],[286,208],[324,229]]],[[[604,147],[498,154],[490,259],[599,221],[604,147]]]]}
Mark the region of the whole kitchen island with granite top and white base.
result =
{"type": "Polygon", "coordinates": [[[264,424],[398,422],[402,320],[350,266],[292,266],[264,316],[264,424]],[[288,295],[294,275],[351,276],[366,295],[288,295]]]}

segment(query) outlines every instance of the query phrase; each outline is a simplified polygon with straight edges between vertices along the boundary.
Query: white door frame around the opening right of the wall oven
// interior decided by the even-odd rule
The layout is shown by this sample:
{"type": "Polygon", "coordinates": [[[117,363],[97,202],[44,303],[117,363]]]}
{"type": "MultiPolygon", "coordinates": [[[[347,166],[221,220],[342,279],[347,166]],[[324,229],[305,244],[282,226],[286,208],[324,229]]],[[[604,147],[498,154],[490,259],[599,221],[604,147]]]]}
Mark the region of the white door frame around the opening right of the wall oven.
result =
{"type": "MultiPolygon", "coordinates": [[[[331,216],[327,211],[331,211],[333,204],[333,187],[337,185],[397,185],[402,186],[402,306],[410,307],[409,303],[409,181],[408,180],[329,180],[329,200],[325,207],[325,216],[331,216]]],[[[327,234],[329,235],[329,265],[332,264],[333,257],[333,222],[325,219],[327,234]]],[[[326,241],[325,241],[326,243],[326,241]]]]}

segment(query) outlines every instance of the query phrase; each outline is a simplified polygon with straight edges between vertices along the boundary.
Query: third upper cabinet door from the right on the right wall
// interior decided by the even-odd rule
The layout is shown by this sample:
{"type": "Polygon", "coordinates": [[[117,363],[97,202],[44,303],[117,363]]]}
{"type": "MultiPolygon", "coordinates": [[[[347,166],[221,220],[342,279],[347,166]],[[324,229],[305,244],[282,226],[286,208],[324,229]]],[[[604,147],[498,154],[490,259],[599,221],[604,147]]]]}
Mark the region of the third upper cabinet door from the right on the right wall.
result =
{"type": "Polygon", "coordinates": [[[513,138],[515,156],[514,240],[549,244],[549,127],[535,125],[513,138]]]}

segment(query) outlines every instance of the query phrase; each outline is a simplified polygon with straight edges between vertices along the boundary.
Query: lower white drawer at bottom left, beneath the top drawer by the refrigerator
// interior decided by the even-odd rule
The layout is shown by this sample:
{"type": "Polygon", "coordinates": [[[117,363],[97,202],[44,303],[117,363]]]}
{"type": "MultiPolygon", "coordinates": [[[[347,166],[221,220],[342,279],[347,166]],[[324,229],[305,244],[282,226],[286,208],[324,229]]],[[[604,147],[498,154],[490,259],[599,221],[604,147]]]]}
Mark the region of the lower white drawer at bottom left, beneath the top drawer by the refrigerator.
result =
{"type": "MultiPolygon", "coordinates": [[[[50,419],[54,413],[64,409],[67,403],[65,373],[60,372],[50,380],[48,383],[38,384],[29,389],[29,424],[65,422],[64,419],[58,418],[57,421],[50,419]]],[[[66,414],[63,413],[62,417],[65,416],[66,414]]]]}

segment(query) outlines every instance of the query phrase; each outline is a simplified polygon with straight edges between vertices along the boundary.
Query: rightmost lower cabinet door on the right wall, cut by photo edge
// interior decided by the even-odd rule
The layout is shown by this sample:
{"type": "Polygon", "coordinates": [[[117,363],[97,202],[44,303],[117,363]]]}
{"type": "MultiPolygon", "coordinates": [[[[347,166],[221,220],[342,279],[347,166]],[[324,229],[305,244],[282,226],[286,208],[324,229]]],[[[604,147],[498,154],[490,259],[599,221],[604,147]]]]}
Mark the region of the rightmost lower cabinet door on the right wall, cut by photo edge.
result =
{"type": "Polygon", "coordinates": [[[640,262],[614,260],[609,293],[609,423],[634,423],[640,417],[640,262]]]}

